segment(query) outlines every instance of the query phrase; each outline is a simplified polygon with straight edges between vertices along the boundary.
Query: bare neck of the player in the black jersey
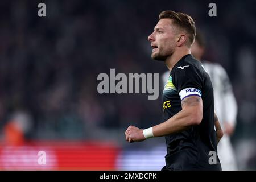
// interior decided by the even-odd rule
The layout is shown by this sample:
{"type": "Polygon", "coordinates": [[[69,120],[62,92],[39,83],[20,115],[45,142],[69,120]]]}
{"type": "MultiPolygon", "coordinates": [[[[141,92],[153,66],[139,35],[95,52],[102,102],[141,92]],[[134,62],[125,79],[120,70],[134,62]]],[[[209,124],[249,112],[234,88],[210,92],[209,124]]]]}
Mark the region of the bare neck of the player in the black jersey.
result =
{"type": "Polygon", "coordinates": [[[167,57],[167,59],[164,61],[167,68],[172,71],[172,68],[174,68],[174,65],[185,55],[191,54],[191,51],[189,48],[184,47],[180,49],[179,51],[175,51],[171,56],[167,57]]]}

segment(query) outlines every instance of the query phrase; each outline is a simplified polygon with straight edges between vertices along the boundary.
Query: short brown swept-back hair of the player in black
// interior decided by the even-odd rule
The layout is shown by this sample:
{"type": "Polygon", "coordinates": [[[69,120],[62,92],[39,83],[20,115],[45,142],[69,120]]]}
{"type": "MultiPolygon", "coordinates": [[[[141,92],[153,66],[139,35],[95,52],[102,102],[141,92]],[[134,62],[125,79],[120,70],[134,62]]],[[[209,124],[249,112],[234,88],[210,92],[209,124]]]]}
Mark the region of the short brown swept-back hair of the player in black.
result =
{"type": "Polygon", "coordinates": [[[196,26],[194,20],[191,18],[191,16],[175,12],[171,10],[162,11],[159,14],[159,20],[164,18],[170,18],[173,20],[173,23],[179,27],[185,30],[188,33],[188,39],[189,43],[192,44],[195,41],[196,36],[196,26]]]}

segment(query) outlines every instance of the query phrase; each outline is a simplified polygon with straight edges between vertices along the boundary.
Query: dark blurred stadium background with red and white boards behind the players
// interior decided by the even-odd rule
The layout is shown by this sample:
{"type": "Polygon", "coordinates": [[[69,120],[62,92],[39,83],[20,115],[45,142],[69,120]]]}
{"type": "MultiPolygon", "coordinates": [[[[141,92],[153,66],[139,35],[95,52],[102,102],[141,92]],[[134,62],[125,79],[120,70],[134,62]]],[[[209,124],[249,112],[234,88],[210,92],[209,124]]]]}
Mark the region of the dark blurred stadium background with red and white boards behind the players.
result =
{"type": "MultiPolygon", "coordinates": [[[[204,32],[204,59],[226,69],[237,100],[231,141],[239,170],[256,169],[256,3],[214,1],[0,1],[0,169],[160,170],[164,138],[127,143],[129,125],[162,122],[148,94],[99,94],[100,73],[159,73],[148,35],[163,10],[204,32]],[[38,4],[46,4],[46,17],[38,4]],[[38,164],[38,151],[47,164],[38,164]]],[[[159,79],[160,81],[160,79],[159,79]]],[[[160,85],[159,85],[160,86],[160,85]]]]}

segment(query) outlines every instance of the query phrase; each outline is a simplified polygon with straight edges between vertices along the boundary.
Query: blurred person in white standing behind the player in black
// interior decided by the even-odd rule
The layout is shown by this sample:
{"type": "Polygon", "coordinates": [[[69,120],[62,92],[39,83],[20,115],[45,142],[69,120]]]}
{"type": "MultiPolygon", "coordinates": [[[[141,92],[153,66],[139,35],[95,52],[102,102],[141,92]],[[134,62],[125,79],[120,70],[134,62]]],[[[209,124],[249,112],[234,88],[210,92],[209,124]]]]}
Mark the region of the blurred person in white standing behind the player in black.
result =
{"type": "MultiPolygon", "coordinates": [[[[197,31],[195,43],[191,46],[191,53],[195,58],[201,61],[205,70],[210,76],[214,89],[214,109],[220,119],[221,127],[224,130],[224,136],[218,144],[218,156],[220,158],[222,170],[237,170],[236,157],[230,136],[234,133],[237,117],[237,102],[234,97],[232,85],[229,81],[225,69],[217,63],[202,60],[205,50],[205,41],[203,35],[197,31]]],[[[162,75],[162,82],[165,83],[170,72],[162,75]]]]}

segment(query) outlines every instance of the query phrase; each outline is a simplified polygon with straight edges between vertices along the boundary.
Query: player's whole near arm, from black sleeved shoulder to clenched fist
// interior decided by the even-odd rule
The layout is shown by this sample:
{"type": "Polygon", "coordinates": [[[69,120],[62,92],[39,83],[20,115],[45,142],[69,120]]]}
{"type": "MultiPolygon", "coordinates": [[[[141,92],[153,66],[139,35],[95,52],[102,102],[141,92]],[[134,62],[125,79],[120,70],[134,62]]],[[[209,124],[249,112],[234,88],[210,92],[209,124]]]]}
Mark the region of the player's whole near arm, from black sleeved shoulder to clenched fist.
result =
{"type": "Polygon", "coordinates": [[[201,123],[203,119],[203,101],[200,88],[202,88],[203,75],[199,68],[188,65],[186,69],[175,69],[172,82],[180,96],[181,111],[167,119],[167,121],[145,130],[129,126],[125,131],[127,141],[139,142],[151,137],[180,133],[193,125],[201,123]]]}

